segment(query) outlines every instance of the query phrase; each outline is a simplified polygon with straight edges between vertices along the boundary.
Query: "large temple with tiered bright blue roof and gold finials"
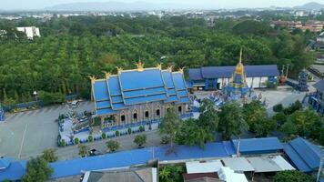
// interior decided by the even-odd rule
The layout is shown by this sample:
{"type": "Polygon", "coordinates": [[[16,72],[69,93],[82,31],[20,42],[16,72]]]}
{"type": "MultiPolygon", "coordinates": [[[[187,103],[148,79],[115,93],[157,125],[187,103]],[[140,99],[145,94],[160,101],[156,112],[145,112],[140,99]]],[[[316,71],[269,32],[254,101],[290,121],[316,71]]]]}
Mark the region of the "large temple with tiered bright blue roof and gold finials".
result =
{"type": "Polygon", "coordinates": [[[144,68],[139,62],[137,69],[118,68],[116,75],[90,78],[96,116],[101,118],[103,129],[158,122],[171,106],[179,116],[189,112],[190,96],[182,69],[174,72],[172,67],[162,69],[161,65],[144,68]]]}

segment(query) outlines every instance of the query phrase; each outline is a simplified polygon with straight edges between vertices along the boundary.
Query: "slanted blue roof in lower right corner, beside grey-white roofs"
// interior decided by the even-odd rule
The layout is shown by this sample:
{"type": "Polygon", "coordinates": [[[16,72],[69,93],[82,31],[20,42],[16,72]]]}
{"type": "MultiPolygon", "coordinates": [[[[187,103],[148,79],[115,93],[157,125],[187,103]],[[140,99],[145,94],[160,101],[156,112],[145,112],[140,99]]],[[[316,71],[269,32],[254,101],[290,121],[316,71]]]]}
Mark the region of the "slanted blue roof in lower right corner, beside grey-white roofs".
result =
{"type": "Polygon", "coordinates": [[[300,171],[310,172],[319,167],[320,148],[298,137],[285,144],[285,153],[300,171]]]}

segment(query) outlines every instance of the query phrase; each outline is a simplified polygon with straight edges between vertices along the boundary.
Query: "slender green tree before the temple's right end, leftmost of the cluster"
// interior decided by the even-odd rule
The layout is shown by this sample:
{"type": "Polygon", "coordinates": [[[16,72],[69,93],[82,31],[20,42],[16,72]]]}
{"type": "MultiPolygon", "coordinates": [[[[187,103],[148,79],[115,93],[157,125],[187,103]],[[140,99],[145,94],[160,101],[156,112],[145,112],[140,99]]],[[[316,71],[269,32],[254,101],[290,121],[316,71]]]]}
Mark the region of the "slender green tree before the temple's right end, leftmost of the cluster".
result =
{"type": "Polygon", "coordinates": [[[177,116],[176,109],[174,107],[170,107],[166,116],[162,119],[159,131],[161,135],[168,136],[170,139],[171,150],[174,147],[174,142],[180,126],[181,120],[179,116],[177,116]]]}

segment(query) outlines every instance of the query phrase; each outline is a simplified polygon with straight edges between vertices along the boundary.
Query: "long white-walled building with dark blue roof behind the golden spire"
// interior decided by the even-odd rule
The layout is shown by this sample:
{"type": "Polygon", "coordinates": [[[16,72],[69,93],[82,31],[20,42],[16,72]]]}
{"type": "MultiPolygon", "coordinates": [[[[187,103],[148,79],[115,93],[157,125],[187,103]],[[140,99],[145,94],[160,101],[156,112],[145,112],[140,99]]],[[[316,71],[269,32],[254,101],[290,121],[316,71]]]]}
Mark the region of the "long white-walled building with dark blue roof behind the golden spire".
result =
{"type": "MultiPolygon", "coordinates": [[[[189,79],[193,87],[205,89],[221,89],[229,83],[235,71],[235,66],[205,66],[201,68],[190,68],[189,79]]],[[[279,76],[278,66],[245,66],[247,82],[249,87],[266,87],[268,81],[276,82],[279,76]]]]}

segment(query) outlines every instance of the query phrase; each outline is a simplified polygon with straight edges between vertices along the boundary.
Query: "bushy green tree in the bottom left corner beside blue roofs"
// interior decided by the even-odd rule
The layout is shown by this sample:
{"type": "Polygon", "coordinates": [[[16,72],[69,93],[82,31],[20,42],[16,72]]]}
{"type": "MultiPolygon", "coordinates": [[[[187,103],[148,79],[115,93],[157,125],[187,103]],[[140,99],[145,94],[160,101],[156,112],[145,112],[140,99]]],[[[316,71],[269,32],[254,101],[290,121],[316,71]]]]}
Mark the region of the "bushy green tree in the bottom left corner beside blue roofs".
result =
{"type": "Polygon", "coordinates": [[[31,158],[28,160],[25,175],[21,178],[23,182],[46,181],[53,173],[53,168],[47,165],[43,157],[31,158]]]}

